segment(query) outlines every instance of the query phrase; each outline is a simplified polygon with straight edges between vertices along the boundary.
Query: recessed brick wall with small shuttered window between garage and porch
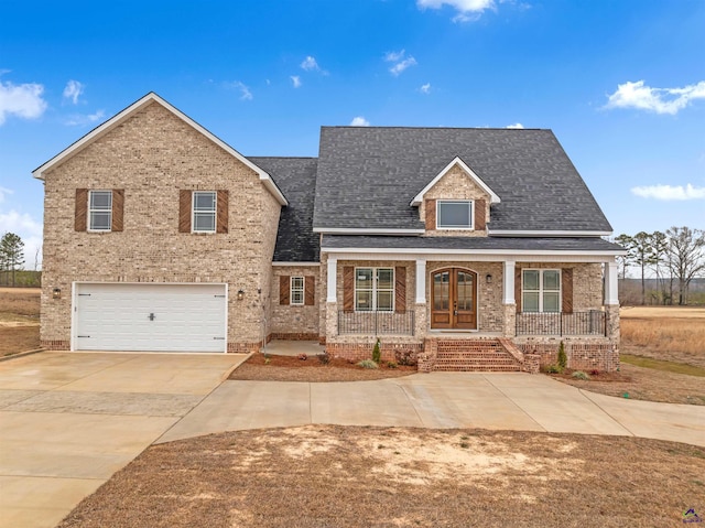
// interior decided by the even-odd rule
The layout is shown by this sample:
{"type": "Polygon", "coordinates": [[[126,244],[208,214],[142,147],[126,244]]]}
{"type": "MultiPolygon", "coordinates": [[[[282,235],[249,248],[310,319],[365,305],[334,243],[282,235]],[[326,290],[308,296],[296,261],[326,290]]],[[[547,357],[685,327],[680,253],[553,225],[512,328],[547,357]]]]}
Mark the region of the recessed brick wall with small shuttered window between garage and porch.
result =
{"type": "MultiPolygon", "coordinates": [[[[318,340],[318,322],[321,320],[319,303],[325,297],[319,282],[318,266],[274,266],[271,281],[271,324],[270,332],[275,340],[318,340]],[[280,277],[313,277],[314,278],[314,304],[312,306],[296,304],[280,304],[279,280],[280,277]],[[276,336],[276,337],[274,337],[276,336]],[[289,336],[289,337],[284,337],[289,336]]],[[[305,281],[304,281],[305,282],[305,281]]]]}

